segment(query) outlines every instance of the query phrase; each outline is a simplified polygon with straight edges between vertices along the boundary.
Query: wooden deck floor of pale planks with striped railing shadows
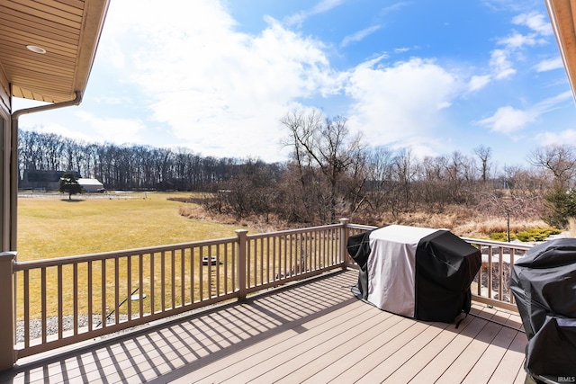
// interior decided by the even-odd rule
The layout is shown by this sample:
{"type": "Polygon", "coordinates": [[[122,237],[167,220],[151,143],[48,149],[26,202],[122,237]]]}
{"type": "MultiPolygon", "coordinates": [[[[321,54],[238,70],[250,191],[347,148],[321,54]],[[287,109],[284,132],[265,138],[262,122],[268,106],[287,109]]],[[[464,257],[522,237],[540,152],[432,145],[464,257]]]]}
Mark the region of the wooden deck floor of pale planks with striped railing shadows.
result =
{"type": "Polygon", "coordinates": [[[518,314],[474,304],[458,328],[416,321],[354,298],[356,279],[338,272],[19,362],[0,382],[524,383],[518,314]]]}

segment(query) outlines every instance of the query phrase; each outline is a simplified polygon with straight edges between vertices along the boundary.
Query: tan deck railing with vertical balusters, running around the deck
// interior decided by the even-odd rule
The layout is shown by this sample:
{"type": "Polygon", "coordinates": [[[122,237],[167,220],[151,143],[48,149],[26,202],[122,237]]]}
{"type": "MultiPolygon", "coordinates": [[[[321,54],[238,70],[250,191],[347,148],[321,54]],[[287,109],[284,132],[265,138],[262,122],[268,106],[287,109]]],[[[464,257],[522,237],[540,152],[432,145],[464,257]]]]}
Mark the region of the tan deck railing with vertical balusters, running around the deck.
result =
{"type": "MultiPolygon", "coordinates": [[[[35,353],[355,267],[347,237],[369,229],[374,227],[342,219],[330,226],[257,235],[240,229],[236,237],[218,240],[40,261],[0,255],[0,288],[13,291],[0,295],[2,308],[14,308],[0,313],[0,370],[35,353]]],[[[529,246],[465,240],[481,247],[486,259],[473,284],[475,299],[515,308],[507,265],[529,246]]]]}

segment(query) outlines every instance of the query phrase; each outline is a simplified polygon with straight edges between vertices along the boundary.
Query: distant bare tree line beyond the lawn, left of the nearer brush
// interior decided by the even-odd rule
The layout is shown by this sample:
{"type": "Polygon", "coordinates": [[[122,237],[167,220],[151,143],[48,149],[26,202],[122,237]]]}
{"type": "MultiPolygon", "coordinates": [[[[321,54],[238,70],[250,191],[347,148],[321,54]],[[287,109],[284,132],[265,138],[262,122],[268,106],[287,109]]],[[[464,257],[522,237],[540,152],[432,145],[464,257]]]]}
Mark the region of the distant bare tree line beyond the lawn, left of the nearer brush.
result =
{"type": "Polygon", "coordinates": [[[74,171],[110,190],[199,191],[228,180],[238,160],[200,156],[184,147],[85,143],[20,129],[19,171],[74,171]]]}

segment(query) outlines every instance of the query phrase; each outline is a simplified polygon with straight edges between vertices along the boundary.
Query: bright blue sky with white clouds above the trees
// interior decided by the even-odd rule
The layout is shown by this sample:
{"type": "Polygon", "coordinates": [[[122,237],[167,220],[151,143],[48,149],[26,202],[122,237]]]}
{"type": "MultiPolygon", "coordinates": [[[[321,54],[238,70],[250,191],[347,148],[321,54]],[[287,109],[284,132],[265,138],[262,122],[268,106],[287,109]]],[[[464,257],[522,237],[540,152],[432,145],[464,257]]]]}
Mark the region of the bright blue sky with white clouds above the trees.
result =
{"type": "Polygon", "coordinates": [[[83,103],[20,126],[282,161],[280,120],[307,107],[371,146],[483,145],[500,168],[576,143],[544,0],[112,0],[83,103]]]}

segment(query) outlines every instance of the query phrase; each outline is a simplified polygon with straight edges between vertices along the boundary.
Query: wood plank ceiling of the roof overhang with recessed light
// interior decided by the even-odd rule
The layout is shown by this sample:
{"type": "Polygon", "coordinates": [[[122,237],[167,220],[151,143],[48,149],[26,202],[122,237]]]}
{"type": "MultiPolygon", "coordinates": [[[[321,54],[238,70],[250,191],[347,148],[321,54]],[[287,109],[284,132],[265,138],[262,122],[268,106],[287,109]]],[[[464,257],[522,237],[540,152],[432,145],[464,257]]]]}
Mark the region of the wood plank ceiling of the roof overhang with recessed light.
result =
{"type": "Polygon", "coordinates": [[[109,0],[0,0],[0,71],[12,95],[59,103],[83,93],[108,4],[109,0]]]}

